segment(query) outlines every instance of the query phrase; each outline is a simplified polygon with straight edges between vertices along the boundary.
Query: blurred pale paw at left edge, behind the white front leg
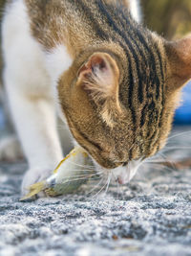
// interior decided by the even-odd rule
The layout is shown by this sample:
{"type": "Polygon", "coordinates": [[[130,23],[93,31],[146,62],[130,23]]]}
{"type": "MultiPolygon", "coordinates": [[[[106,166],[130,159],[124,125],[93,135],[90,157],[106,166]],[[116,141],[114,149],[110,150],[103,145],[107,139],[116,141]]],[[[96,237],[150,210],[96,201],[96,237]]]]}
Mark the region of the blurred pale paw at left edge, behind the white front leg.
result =
{"type": "Polygon", "coordinates": [[[0,139],[0,161],[13,162],[23,157],[23,151],[15,135],[0,139]]]}

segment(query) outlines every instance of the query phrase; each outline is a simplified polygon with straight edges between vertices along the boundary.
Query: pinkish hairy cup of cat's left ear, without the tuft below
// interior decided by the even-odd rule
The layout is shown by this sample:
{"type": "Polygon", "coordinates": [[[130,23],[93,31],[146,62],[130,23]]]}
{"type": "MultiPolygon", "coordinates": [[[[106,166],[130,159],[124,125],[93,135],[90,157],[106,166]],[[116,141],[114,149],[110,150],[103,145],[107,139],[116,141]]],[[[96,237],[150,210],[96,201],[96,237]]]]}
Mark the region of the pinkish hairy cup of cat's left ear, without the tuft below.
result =
{"type": "Polygon", "coordinates": [[[96,102],[118,97],[119,70],[109,54],[95,53],[78,71],[78,82],[96,102]]]}

